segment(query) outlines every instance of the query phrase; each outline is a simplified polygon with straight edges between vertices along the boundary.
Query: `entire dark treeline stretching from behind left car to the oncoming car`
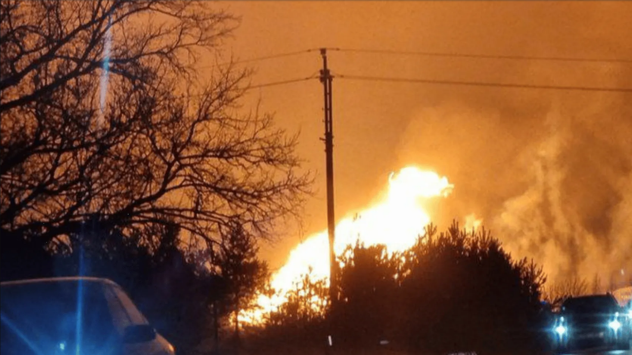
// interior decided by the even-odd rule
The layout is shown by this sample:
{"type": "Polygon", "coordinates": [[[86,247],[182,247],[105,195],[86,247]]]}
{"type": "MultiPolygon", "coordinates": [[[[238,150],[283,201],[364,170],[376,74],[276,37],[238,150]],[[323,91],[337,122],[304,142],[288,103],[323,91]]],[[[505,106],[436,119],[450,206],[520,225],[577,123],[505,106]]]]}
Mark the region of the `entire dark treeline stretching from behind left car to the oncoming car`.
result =
{"type": "Polygon", "coordinates": [[[454,223],[439,233],[428,226],[403,253],[349,246],[339,258],[334,308],[327,284],[305,275],[288,301],[264,316],[263,327],[242,323],[241,336],[234,315],[251,306],[258,292],[273,290],[255,239],[239,224],[217,248],[185,246],[175,225],[124,236],[87,224],[73,235],[52,253],[5,244],[22,239],[3,236],[3,280],[112,279],[179,354],[529,353],[547,340],[542,268],[513,260],[484,229],[464,231],[454,223]]]}

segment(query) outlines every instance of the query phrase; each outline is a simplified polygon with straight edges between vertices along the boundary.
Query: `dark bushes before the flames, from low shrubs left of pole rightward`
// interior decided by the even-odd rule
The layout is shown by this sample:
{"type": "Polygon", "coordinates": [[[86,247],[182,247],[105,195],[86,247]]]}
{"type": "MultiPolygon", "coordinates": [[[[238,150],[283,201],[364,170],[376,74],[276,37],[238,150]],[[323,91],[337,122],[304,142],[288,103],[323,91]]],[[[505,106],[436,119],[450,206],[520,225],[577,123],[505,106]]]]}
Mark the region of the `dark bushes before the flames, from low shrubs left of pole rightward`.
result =
{"type": "Polygon", "coordinates": [[[304,280],[270,316],[273,322],[253,335],[249,350],[279,353],[279,344],[294,342],[318,353],[327,349],[327,335],[330,350],[340,353],[515,354],[547,343],[542,268],[513,260],[484,229],[464,231],[454,223],[437,233],[429,226],[403,253],[357,244],[339,262],[339,303],[332,311],[315,316],[303,306],[301,294],[327,294],[304,280]]]}

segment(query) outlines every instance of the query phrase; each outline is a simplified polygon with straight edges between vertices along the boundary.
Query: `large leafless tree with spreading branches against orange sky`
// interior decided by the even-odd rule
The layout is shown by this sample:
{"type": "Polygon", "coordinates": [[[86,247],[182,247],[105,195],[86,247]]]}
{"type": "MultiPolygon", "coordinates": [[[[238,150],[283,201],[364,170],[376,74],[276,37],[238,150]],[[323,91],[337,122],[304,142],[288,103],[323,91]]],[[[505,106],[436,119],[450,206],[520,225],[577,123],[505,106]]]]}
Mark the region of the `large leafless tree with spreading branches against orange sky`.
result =
{"type": "Polygon", "coordinates": [[[198,66],[234,16],[188,1],[8,0],[0,23],[3,235],[46,244],[86,220],[169,221],[210,243],[235,220],[265,236],[300,204],[296,136],[239,113],[248,71],[198,66]]]}

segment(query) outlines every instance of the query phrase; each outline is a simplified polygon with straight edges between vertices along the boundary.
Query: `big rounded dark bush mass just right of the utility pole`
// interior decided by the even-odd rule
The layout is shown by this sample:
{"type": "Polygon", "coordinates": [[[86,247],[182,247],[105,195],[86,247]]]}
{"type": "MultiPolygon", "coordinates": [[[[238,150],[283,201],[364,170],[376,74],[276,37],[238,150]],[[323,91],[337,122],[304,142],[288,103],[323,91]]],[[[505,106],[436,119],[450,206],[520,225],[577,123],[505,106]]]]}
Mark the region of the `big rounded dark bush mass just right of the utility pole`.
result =
{"type": "Polygon", "coordinates": [[[410,250],[356,245],[341,270],[341,336],[410,351],[496,351],[537,338],[542,269],[489,231],[428,226],[410,250]]]}

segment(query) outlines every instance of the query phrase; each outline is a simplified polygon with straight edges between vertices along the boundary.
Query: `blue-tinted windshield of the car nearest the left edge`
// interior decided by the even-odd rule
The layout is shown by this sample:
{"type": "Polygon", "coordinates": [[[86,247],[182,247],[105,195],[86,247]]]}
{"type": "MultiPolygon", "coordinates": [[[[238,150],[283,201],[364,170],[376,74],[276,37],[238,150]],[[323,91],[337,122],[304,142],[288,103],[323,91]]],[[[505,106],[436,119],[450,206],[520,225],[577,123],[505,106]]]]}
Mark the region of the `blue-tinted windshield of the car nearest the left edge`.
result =
{"type": "Polygon", "coordinates": [[[114,340],[112,316],[97,282],[32,282],[3,285],[1,308],[5,342],[24,343],[35,352],[76,345],[102,349],[114,340]],[[81,301],[80,301],[81,299],[81,301]]]}

